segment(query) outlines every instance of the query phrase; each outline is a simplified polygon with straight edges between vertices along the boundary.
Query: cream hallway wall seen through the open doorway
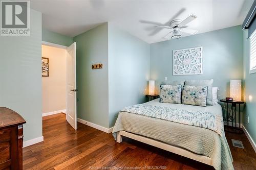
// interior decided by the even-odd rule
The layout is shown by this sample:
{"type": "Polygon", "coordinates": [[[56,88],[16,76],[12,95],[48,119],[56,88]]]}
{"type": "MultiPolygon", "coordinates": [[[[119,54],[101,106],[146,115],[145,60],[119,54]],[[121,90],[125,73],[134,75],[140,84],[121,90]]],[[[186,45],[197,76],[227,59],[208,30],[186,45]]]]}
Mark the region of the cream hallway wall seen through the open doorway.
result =
{"type": "Polygon", "coordinates": [[[49,58],[49,77],[42,77],[42,113],[66,109],[66,50],[42,45],[49,58]]]}

